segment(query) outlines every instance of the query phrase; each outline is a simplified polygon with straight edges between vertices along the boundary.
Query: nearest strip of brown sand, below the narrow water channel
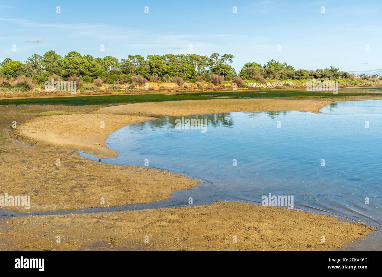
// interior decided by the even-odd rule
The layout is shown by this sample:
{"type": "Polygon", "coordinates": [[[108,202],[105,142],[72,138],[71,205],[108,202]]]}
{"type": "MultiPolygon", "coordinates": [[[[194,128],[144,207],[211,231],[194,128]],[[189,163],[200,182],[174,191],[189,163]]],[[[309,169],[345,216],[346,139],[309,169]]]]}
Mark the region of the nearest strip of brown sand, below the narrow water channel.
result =
{"type": "Polygon", "coordinates": [[[8,227],[0,229],[0,239],[11,250],[334,250],[373,229],[243,202],[16,217],[2,223],[8,227]]]}

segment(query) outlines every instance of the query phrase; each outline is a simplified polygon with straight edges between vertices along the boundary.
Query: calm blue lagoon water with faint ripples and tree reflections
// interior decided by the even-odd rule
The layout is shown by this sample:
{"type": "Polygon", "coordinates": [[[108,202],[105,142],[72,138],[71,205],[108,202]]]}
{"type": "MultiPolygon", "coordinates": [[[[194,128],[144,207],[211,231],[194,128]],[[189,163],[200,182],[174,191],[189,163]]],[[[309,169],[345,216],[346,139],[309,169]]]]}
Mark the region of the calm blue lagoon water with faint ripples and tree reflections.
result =
{"type": "Polygon", "coordinates": [[[185,117],[207,119],[205,133],[175,130],[177,118],[181,117],[135,123],[107,139],[108,147],[120,155],[102,162],[143,167],[148,159],[149,167],[204,180],[199,187],[175,191],[170,199],[134,207],[188,205],[189,197],[194,205],[216,200],[261,202],[263,194],[271,193],[293,195],[297,208],[377,226],[382,222],[382,100],[338,102],[320,114],[185,117]]]}

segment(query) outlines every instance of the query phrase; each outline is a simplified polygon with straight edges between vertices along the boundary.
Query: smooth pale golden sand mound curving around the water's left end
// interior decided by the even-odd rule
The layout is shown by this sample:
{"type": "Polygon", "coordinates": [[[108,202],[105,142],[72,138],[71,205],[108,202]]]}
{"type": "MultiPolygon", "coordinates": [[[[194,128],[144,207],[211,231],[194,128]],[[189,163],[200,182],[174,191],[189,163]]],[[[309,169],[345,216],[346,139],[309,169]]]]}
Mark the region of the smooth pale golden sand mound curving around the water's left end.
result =
{"type": "Polygon", "coordinates": [[[156,118],[89,113],[50,115],[18,125],[13,134],[39,145],[72,147],[99,158],[116,157],[118,152],[105,143],[109,134],[123,126],[152,119],[156,118]]]}

